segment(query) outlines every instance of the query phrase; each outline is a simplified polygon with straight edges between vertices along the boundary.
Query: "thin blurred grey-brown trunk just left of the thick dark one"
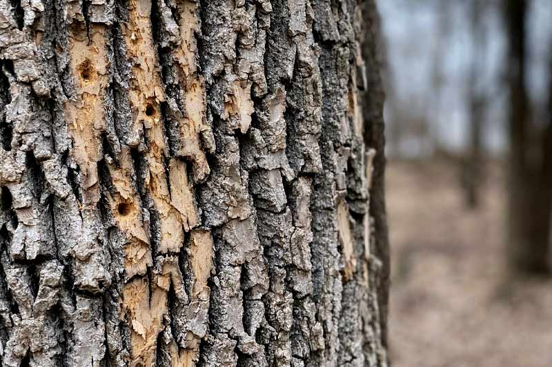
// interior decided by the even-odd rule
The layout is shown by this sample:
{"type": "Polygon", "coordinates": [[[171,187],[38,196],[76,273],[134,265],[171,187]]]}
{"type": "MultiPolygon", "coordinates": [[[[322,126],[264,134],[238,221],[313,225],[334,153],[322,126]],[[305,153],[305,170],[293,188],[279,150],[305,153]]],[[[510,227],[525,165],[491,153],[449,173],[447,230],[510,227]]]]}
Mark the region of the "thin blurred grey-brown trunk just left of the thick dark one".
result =
{"type": "Polygon", "coordinates": [[[480,76],[485,67],[486,34],[482,19],[483,0],[472,0],[471,6],[471,65],[468,78],[469,148],[462,164],[462,178],[467,207],[473,209],[479,203],[479,187],[482,184],[482,123],[486,95],[480,76]]]}

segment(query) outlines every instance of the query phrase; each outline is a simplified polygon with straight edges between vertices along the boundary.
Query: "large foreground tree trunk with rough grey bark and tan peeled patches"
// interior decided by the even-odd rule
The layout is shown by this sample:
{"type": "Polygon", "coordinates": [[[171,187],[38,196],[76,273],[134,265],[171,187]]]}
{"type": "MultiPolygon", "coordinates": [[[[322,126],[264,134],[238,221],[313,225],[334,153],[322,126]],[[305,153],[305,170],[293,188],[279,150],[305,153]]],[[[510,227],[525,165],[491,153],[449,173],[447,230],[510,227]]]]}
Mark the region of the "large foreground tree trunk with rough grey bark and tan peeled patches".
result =
{"type": "Polygon", "coordinates": [[[2,366],[387,365],[373,0],[0,1],[2,366]]]}

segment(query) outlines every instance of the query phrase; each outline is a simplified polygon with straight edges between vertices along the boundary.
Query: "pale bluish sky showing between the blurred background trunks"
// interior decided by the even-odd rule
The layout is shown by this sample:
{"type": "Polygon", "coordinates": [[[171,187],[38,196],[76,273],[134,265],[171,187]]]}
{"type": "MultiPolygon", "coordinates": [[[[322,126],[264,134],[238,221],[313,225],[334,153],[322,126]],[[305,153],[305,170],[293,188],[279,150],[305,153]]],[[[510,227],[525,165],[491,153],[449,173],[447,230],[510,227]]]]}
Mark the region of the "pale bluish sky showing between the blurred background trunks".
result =
{"type": "MultiPolygon", "coordinates": [[[[396,103],[408,114],[423,115],[433,125],[433,139],[450,149],[466,143],[466,93],[472,59],[469,1],[449,1],[444,21],[438,0],[378,0],[384,40],[396,103]],[[442,89],[431,84],[436,50],[442,50],[442,89]]],[[[487,4],[493,3],[489,1],[487,4]]],[[[504,103],[500,85],[505,44],[500,12],[491,6],[482,13],[486,47],[482,55],[484,72],[478,87],[491,96],[484,134],[487,147],[504,147],[504,103]]],[[[529,12],[528,86],[533,103],[544,101],[548,89],[548,53],[552,45],[552,1],[533,0],[529,12]]],[[[391,120],[391,116],[388,116],[391,120]]],[[[390,121],[393,123],[393,121],[390,121]]],[[[405,129],[408,129],[406,127],[405,129]]],[[[415,147],[412,154],[417,154],[415,147]]],[[[407,149],[408,150],[408,147],[407,149]]],[[[412,149],[411,149],[412,150],[412,149]]]]}

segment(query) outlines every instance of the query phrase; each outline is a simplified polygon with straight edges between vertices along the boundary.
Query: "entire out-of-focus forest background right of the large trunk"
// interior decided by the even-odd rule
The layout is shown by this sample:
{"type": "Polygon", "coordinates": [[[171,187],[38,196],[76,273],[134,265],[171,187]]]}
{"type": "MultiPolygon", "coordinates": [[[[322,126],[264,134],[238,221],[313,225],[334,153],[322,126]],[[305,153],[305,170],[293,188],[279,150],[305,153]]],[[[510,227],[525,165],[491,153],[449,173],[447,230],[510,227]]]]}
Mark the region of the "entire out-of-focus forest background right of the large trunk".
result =
{"type": "Polygon", "coordinates": [[[552,1],[378,6],[393,366],[552,366],[552,1]]]}

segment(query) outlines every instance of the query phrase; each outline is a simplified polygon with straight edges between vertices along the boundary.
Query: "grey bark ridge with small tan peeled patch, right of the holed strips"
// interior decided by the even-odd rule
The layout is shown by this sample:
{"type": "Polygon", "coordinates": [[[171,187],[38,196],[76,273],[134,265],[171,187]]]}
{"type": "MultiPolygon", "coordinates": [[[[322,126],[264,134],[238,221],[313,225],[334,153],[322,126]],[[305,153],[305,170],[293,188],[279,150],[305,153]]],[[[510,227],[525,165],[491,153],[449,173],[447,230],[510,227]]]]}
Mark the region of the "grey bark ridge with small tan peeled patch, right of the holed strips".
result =
{"type": "Polygon", "coordinates": [[[201,366],[265,366],[257,333],[264,324],[262,296],[268,280],[241,155],[255,110],[252,98],[266,94],[263,28],[269,4],[201,5],[201,67],[217,145],[210,177],[199,191],[204,223],[215,240],[210,333],[201,366]]]}

